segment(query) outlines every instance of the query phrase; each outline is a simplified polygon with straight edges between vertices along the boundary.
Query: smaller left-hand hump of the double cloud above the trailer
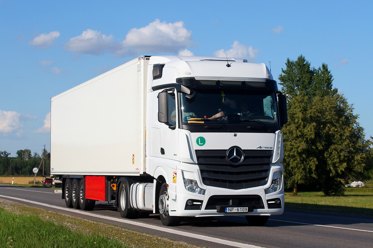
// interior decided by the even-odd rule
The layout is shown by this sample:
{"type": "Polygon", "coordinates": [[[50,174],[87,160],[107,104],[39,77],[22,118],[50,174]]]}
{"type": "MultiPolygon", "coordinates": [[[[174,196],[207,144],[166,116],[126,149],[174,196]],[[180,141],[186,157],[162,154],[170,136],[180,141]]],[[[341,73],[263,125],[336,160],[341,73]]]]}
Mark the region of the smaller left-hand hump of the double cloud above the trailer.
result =
{"type": "Polygon", "coordinates": [[[87,29],[79,36],[71,38],[64,49],[81,53],[100,55],[106,51],[113,52],[118,49],[119,42],[114,42],[114,36],[101,35],[101,32],[87,29]]]}

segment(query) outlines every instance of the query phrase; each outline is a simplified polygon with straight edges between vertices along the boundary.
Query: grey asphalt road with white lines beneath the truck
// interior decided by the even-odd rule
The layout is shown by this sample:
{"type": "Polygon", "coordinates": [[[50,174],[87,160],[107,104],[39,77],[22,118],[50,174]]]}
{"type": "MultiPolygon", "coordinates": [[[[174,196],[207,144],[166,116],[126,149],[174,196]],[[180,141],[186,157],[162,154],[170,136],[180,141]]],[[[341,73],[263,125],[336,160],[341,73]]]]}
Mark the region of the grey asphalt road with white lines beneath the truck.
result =
{"type": "Polygon", "coordinates": [[[285,209],[283,215],[270,216],[265,226],[249,226],[244,216],[233,216],[189,218],[165,227],[158,215],[123,219],[104,202],[97,202],[93,211],[68,209],[61,194],[51,189],[0,184],[0,198],[207,247],[373,247],[373,217],[367,216],[285,209]]]}

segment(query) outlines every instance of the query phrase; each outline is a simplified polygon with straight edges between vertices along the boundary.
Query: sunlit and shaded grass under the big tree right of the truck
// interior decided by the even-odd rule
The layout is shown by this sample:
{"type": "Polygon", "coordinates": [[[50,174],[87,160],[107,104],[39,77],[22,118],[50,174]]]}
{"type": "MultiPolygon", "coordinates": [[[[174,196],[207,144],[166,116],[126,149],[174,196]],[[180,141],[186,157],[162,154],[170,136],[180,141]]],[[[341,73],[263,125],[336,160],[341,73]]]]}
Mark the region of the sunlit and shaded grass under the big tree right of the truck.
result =
{"type": "Polygon", "coordinates": [[[373,216],[373,189],[347,188],[344,196],[324,196],[322,192],[285,193],[285,209],[373,216]]]}

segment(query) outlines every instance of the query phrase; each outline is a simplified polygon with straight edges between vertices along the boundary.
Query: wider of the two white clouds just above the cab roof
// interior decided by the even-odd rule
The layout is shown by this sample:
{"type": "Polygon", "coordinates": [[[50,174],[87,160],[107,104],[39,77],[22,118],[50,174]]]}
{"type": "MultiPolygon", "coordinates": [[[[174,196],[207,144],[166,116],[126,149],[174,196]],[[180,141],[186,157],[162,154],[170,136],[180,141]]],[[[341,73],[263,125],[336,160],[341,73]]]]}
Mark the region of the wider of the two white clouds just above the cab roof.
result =
{"type": "Polygon", "coordinates": [[[245,46],[240,44],[238,41],[233,42],[232,49],[224,51],[220,49],[215,51],[213,54],[216,57],[233,57],[233,58],[245,58],[248,61],[254,61],[258,55],[259,50],[254,49],[253,46],[245,46]]]}

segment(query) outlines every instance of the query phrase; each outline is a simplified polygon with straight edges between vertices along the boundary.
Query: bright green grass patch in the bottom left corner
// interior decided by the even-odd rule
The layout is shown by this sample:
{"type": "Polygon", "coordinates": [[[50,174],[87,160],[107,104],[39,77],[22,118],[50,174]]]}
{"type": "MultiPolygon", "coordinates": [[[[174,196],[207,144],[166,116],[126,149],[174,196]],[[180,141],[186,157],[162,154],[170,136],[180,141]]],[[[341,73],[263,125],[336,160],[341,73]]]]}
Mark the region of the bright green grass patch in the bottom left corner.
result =
{"type": "Polygon", "coordinates": [[[55,225],[35,215],[15,215],[0,208],[0,219],[0,247],[127,247],[116,239],[73,232],[66,226],[55,225]]]}

